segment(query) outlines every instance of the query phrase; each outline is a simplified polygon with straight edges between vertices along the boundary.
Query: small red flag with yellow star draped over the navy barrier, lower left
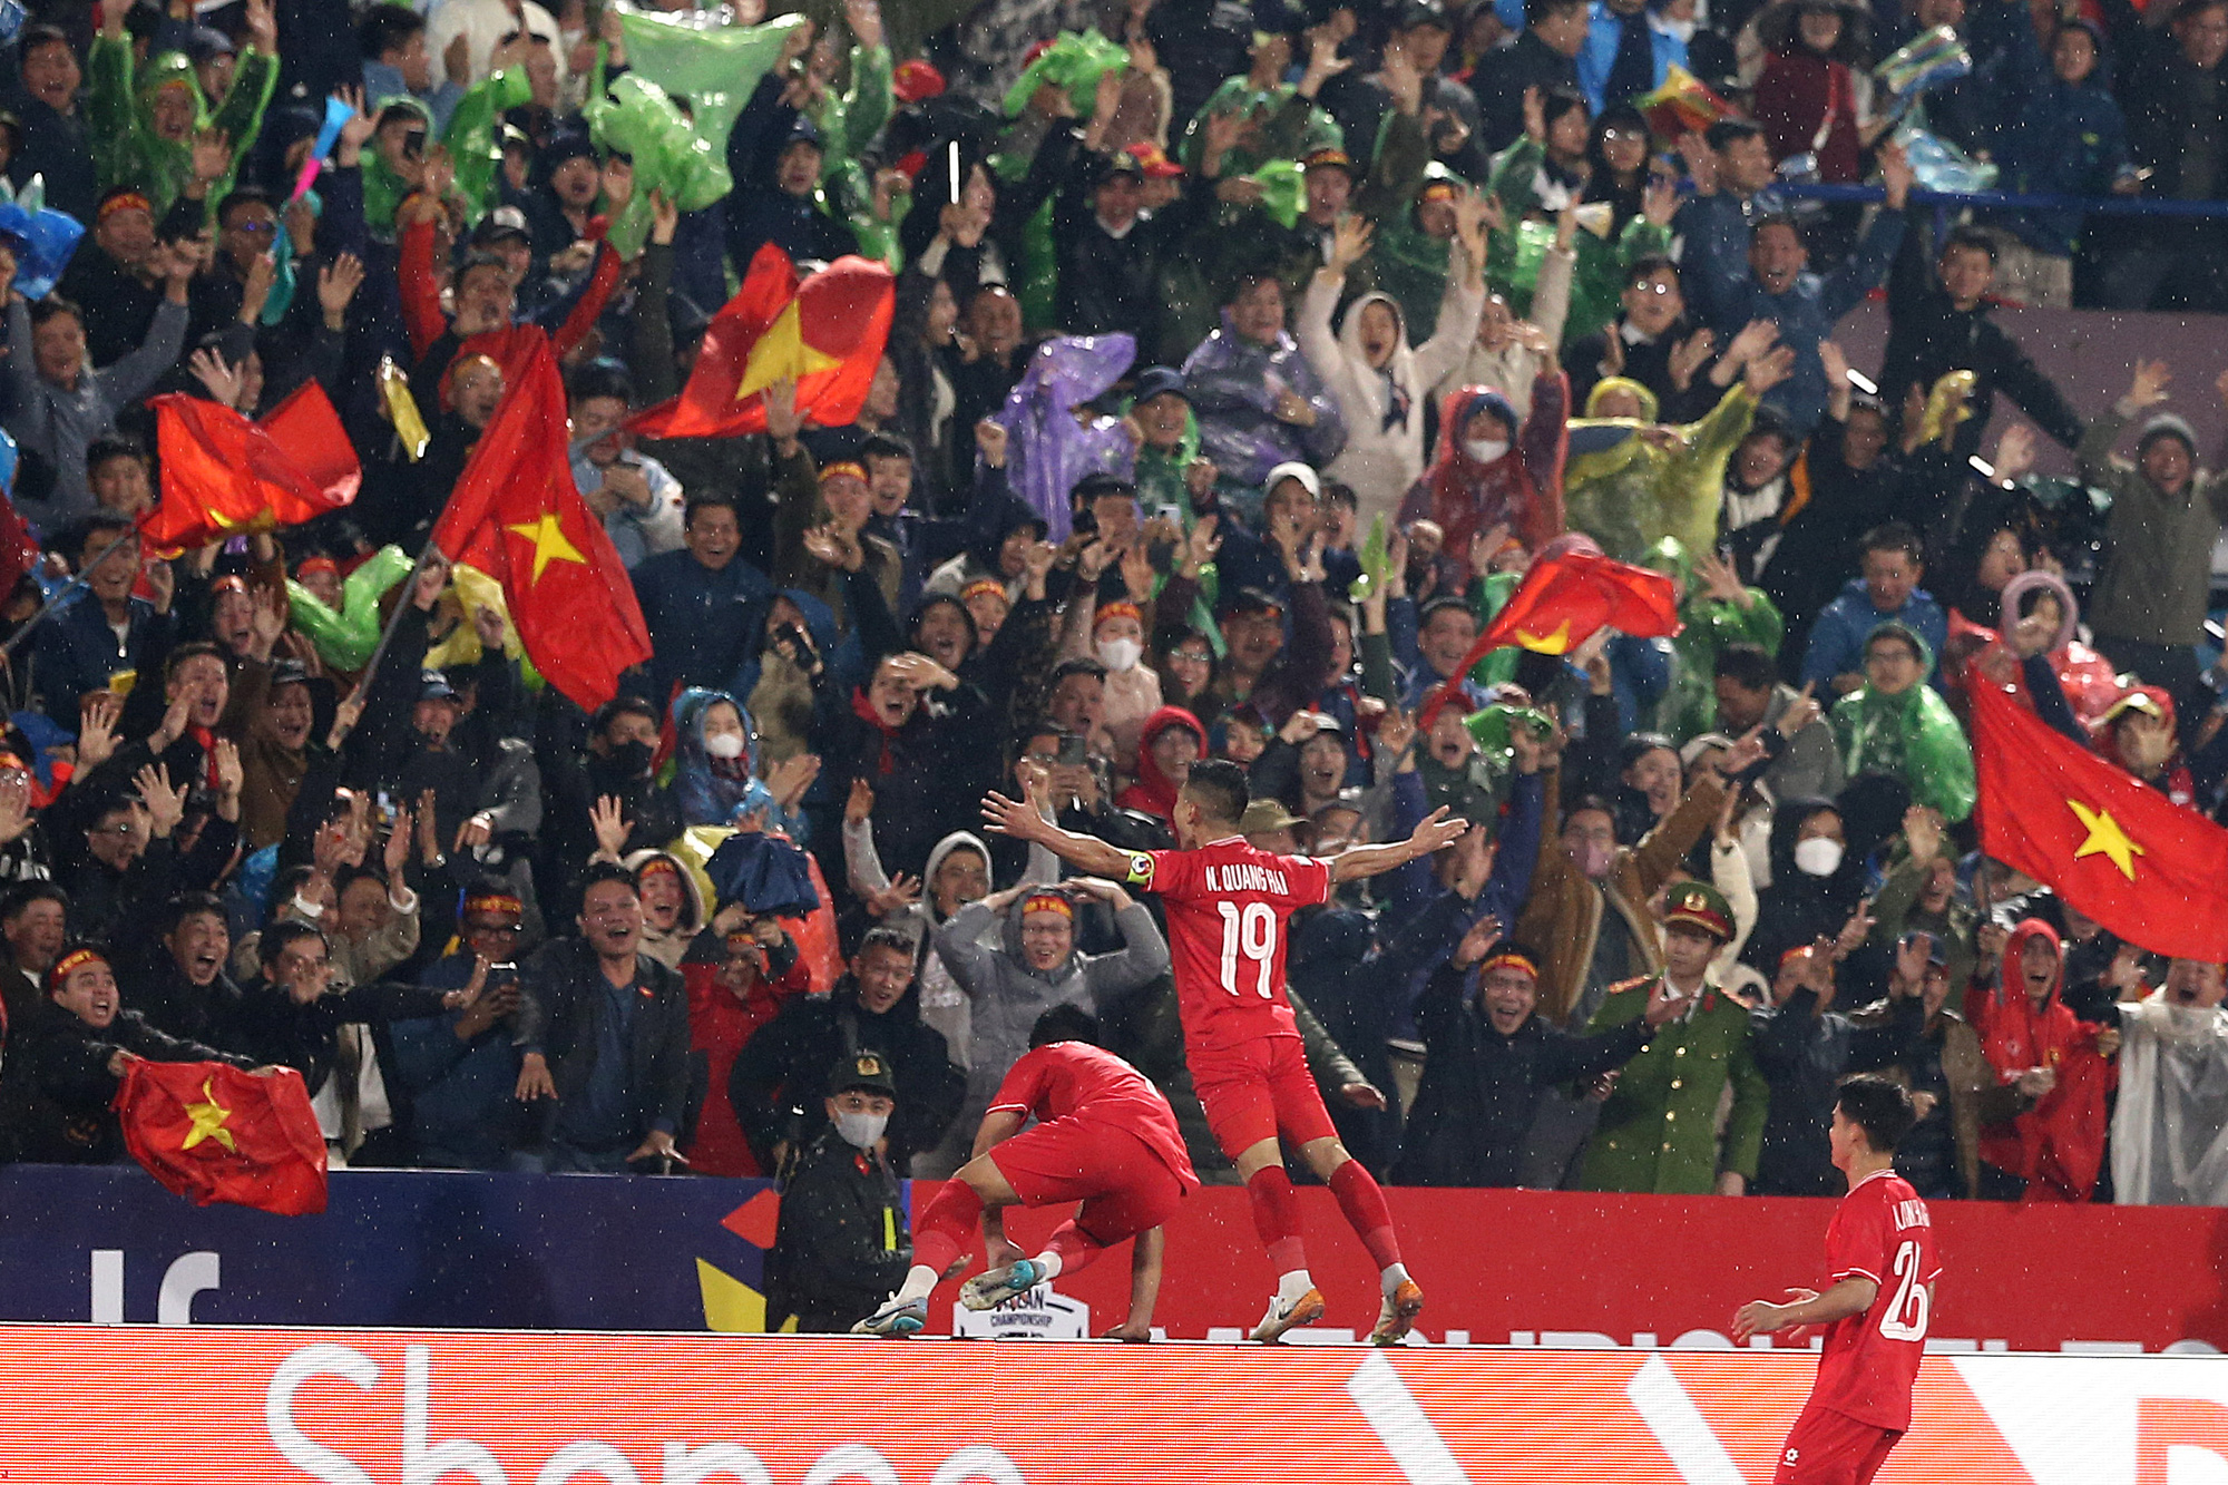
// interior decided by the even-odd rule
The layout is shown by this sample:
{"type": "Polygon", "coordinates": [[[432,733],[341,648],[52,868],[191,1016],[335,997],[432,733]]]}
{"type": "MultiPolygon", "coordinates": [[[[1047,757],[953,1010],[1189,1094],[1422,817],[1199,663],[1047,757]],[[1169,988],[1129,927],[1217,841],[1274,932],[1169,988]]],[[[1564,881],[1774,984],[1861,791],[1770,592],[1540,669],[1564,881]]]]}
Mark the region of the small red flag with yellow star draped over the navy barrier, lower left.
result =
{"type": "Polygon", "coordinates": [[[147,1175],[196,1206],[325,1211],[325,1137],[294,1068],[143,1057],[125,1068],[116,1117],[147,1175]]]}

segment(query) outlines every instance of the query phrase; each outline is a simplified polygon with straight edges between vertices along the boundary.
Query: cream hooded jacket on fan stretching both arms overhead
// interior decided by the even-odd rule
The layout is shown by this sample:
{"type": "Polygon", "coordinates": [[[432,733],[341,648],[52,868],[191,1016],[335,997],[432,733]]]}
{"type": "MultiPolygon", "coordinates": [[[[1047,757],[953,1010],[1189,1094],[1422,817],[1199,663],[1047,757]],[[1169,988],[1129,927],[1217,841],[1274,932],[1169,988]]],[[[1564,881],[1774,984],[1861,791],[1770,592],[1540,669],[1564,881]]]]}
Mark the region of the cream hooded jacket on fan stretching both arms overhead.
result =
{"type": "Polygon", "coordinates": [[[1317,272],[1299,301],[1297,330],[1308,366],[1337,397],[1339,417],[1346,419],[1346,448],[1323,473],[1352,486],[1361,524],[1368,526],[1375,513],[1399,508],[1408,486],[1424,473],[1424,417],[1433,388],[1468,352],[1486,294],[1484,281],[1459,261],[1448,263],[1437,328],[1428,341],[1410,346],[1408,317],[1390,294],[1361,294],[1346,305],[1346,319],[1332,339],[1330,312],[1343,283],[1328,268],[1317,272]],[[1393,314],[1393,355],[1384,370],[1372,368],[1361,348],[1361,312],[1372,303],[1393,314]]]}

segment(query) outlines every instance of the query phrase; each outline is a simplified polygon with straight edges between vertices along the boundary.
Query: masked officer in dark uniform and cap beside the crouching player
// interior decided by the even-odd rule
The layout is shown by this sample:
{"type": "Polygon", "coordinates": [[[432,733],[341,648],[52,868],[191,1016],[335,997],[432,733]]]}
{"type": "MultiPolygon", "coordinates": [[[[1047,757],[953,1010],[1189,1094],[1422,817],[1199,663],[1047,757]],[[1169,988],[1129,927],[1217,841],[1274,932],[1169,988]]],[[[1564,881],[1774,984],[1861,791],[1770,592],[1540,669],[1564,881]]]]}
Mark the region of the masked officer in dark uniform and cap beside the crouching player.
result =
{"type": "Polygon", "coordinates": [[[840,1333],[889,1298],[913,1266],[898,1177],[882,1130],[898,1108],[889,1057],[858,1050],[827,1081],[829,1128],[804,1146],[766,1255],[766,1329],[840,1333]]]}

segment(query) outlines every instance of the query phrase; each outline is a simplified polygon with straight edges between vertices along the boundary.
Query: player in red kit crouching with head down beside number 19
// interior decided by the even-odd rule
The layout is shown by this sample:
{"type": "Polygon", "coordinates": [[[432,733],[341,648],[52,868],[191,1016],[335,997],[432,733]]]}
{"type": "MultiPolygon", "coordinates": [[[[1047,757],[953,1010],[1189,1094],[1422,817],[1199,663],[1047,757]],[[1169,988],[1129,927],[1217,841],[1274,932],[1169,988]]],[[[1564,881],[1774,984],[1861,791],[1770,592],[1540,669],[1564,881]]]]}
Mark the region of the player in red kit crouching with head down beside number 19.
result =
{"type": "Polygon", "coordinates": [[[929,1322],[929,1293],[967,1253],[976,1222],[991,1262],[960,1289],[967,1309],[991,1309],[1061,1273],[1074,1273],[1114,1244],[1136,1238],[1130,1318],[1114,1331],[1152,1333],[1161,1289],[1161,1224],[1199,1175],[1183,1153],[1176,1110],[1143,1072],[1092,1046],[1096,1023],[1074,1006],[1054,1006],[1029,1030],[1029,1052],[998,1084],[983,1113],[974,1159],[945,1182],[913,1231],[913,1269],[889,1302],[860,1320],[860,1336],[911,1336],[929,1322]],[[1023,1133],[1023,1124],[1036,1128],[1023,1133]],[[1081,1202],[1020,1258],[1005,1240],[1005,1206],[1081,1202]]]}

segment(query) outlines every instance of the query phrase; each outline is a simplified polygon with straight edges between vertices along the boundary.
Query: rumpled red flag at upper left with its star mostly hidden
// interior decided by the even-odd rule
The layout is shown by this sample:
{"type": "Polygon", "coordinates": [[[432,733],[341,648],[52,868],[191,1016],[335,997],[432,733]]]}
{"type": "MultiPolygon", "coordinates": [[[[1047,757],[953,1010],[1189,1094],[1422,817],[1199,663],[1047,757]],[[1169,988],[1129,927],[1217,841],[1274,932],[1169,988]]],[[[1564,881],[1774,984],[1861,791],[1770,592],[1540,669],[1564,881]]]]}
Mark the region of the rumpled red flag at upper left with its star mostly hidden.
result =
{"type": "Polygon", "coordinates": [[[156,410],[163,502],[140,520],[140,535],[158,546],[299,526],[339,511],[363,484],[356,448],[316,381],[303,381],[261,421],[183,392],[147,401],[156,410]]]}

